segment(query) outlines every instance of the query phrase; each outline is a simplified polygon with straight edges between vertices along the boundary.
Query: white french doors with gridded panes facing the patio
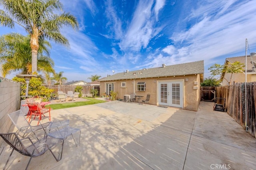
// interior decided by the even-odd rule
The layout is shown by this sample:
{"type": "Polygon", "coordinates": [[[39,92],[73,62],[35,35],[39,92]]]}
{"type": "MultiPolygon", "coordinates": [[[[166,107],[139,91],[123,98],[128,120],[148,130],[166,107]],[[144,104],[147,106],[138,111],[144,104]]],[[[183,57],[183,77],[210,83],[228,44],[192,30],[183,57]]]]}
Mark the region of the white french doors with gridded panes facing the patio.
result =
{"type": "Polygon", "coordinates": [[[182,82],[159,82],[159,104],[183,107],[182,82]]]}

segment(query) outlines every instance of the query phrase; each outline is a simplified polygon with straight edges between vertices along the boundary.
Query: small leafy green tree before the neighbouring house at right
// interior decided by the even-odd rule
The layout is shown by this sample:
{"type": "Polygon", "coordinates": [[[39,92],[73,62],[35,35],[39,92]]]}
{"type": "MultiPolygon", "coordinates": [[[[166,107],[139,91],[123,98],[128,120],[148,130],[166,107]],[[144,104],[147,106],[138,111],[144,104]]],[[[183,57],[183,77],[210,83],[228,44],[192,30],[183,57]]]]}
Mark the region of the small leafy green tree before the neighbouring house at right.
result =
{"type": "Polygon", "coordinates": [[[223,77],[227,82],[230,84],[232,80],[233,73],[240,73],[244,72],[244,63],[240,63],[239,61],[236,61],[234,63],[226,63],[224,65],[220,64],[214,64],[208,68],[210,70],[212,76],[219,76],[219,78],[222,78],[222,73],[231,73],[230,80],[227,80],[225,77],[223,77]]]}

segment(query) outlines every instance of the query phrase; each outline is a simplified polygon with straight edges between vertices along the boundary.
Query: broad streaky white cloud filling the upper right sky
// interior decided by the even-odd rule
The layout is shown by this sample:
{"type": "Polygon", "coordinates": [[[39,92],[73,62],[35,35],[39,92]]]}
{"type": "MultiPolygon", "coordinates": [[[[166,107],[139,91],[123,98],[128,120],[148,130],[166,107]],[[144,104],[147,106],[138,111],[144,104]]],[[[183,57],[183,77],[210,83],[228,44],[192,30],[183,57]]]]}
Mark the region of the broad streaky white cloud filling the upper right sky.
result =
{"type": "Polygon", "coordinates": [[[179,59],[186,56],[186,61],[204,59],[208,62],[215,57],[237,53],[245,48],[247,37],[250,37],[249,40],[252,44],[256,44],[256,1],[237,4],[232,8],[230,2],[217,1],[214,3],[215,6],[208,4],[195,9],[192,16],[201,18],[201,20],[192,25],[190,29],[185,30],[184,28],[183,31],[172,35],[171,39],[175,46],[183,45],[178,49],[177,57],[180,56],[179,59]],[[231,9],[225,11],[227,6],[231,9]],[[210,8],[214,8],[212,11],[223,10],[213,15],[210,8]]]}

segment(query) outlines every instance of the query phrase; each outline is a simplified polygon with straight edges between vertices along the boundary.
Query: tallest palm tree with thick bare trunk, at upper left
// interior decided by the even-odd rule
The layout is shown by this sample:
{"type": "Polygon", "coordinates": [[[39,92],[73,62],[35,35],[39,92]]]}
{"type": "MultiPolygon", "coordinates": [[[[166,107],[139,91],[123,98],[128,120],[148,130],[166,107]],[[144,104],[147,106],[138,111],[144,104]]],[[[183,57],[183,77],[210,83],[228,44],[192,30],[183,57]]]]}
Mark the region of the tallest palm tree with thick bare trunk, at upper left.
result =
{"type": "Polygon", "coordinates": [[[18,24],[30,34],[32,72],[37,72],[39,39],[68,46],[68,39],[61,33],[63,26],[78,28],[76,18],[69,13],[54,14],[62,10],[59,0],[0,0],[4,10],[0,10],[0,25],[14,27],[18,24]]]}

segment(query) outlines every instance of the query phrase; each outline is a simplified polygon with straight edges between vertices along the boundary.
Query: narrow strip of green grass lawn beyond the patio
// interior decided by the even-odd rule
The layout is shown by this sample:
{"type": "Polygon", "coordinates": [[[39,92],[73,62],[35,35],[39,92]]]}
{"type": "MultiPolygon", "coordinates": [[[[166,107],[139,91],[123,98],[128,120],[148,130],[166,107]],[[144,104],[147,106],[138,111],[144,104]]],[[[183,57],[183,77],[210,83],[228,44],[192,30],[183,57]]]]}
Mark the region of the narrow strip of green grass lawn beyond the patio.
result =
{"type": "Polygon", "coordinates": [[[90,104],[98,104],[98,103],[104,103],[106,101],[103,100],[97,100],[94,98],[85,98],[89,101],[84,101],[84,102],[70,102],[70,103],[63,103],[63,104],[49,104],[47,106],[50,106],[51,109],[65,109],[69,107],[77,107],[77,106],[85,106],[85,105],[90,105],[90,104]]]}

